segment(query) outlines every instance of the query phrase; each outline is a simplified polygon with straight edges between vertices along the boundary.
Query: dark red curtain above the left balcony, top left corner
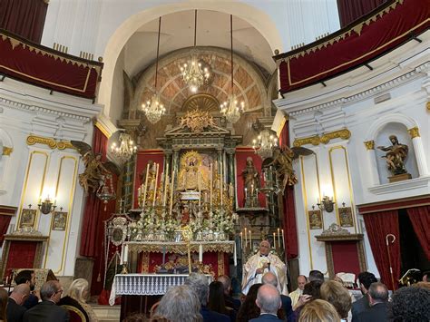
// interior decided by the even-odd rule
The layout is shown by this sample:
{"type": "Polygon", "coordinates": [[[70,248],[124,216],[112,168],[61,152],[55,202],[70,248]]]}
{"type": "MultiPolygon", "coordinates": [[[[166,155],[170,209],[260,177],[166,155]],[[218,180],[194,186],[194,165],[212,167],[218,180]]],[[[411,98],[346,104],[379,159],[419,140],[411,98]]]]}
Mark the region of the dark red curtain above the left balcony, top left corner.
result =
{"type": "Polygon", "coordinates": [[[47,10],[44,0],[2,0],[0,28],[40,44],[47,10]]]}

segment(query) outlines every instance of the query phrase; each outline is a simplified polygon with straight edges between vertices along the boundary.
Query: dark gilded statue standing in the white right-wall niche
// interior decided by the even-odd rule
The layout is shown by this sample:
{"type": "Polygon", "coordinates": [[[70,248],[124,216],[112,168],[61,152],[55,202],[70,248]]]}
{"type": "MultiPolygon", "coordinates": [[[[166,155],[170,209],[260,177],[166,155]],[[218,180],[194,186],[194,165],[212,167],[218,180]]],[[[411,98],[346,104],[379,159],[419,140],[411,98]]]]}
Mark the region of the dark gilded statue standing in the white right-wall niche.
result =
{"type": "Polygon", "coordinates": [[[386,152],[386,155],[382,158],[386,159],[386,168],[393,174],[393,177],[389,177],[388,179],[390,182],[411,179],[412,176],[407,173],[405,167],[406,157],[409,151],[408,146],[399,143],[396,135],[390,135],[389,140],[393,145],[377,147],[377,149],[386,152]]]}

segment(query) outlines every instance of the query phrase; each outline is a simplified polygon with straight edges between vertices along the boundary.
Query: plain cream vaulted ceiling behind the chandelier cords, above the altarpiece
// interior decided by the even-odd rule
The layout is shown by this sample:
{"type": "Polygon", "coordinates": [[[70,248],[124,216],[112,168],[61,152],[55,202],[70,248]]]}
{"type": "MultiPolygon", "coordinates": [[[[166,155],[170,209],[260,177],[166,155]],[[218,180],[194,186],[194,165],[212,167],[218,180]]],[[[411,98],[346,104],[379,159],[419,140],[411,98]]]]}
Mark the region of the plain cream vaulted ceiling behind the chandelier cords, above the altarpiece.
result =
{"type": "MultiPolygon", "coordinates": [[[[124,70],[127,74],[134,76],[155,61],[157,34],[158,19],[143,24],[132,34],[124,46],[124,70]]],[[[193,10],[161,17],[161,55],[192,46],[193,37],[193,10]]],[[[210,10],[198,11],[197,45],[230,50],[230,15],[210,10]]],[[[233,50],[267,73],[273,73],[276,69],[266,39],[238,17],[233,17],[233,50]]]]}

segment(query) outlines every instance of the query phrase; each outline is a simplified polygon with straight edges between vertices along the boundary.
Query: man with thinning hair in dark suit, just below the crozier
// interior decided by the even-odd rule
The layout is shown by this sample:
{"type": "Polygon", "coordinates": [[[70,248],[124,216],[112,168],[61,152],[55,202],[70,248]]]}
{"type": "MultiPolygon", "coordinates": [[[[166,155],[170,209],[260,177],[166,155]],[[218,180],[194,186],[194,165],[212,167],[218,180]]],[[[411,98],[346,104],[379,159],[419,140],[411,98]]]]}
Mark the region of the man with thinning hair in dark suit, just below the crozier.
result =
{"type": "Polygon", "coordinates": [[[384,322],[388,318],[388,289],[382,283],[372,283],[368,293],[370,307],[358,314],[358,322],[384,322]]]}

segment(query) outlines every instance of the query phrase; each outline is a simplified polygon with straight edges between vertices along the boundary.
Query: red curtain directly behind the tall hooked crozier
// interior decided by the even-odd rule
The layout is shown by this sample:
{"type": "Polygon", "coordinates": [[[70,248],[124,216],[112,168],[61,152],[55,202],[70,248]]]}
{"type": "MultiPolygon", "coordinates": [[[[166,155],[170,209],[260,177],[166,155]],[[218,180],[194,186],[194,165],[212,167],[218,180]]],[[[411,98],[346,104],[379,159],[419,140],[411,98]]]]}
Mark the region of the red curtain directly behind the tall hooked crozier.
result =
{"type": "MultiPolygon", "coordinates": [[[[398,211],[388,210],[363,215],[366,224],[367,236],[376,267],[381,275],[381,281],[389,289],[397,288],[397,280],[400,278],[400,234],[398,227],[398,211]],[[393,234],[396,237],[394,243],[390,243],[388,248],[391,255],[391,264],[395,285],[393,286],[390,274],[388,251],[386,246],[386,235],[393,234]]],[[[392,239],[389,239],[390,241],[392,239]]]]}

